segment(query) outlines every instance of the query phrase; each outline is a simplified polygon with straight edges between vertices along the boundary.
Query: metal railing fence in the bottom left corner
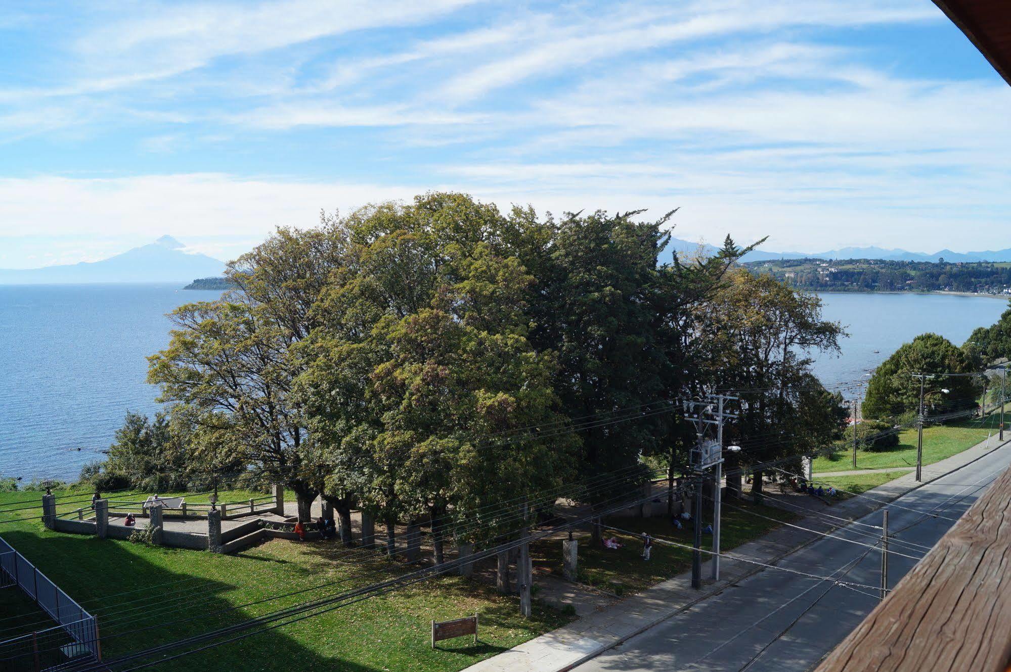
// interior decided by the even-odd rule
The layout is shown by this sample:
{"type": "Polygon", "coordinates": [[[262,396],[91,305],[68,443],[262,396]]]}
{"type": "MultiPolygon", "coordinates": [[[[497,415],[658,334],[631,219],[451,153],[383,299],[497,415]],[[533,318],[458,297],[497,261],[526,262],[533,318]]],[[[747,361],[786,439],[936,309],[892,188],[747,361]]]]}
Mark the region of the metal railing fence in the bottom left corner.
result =
{"type": "Polygon", "coordinates": [[[57,622],[54,628],[0,642],[3,669],[50,669],[71,660],[100,659],[95,617],[3,539],[0,539],[0,576],[3,577],[0,585],[18,586],[57,622]],[[47,660],[45,665],[41,664],[36,645],[41,638],[48,641],[56,638],[66,640],[65,645],[58,647],[60,660],[47,660]],[[7,665],[15,660],[18,661],[16,665],[7,665]]]}

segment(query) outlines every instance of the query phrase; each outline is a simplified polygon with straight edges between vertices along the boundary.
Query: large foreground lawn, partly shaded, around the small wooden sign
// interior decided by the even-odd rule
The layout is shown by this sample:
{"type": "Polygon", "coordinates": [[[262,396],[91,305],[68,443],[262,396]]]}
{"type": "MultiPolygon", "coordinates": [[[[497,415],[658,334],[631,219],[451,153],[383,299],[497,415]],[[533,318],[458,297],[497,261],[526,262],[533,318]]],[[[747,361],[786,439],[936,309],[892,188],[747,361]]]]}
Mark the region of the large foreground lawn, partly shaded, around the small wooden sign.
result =
{"type": "MultiPolygon", "coordinates": [[[[39,493],[3,493],[0,504],[39,493]]],[[[37,501],[37,500],[36,500],[37,501]]],[[[67,505],[75,508],[80,504],[67,505]]],[[[3,519],[38,513],[17,511],[3,519]]],[[[0,535],[39,570],[98,614],[106,658],[238,622],[409,571],[403,565],[338,544],[268,542],[237,556],[165,549],[47,531],[37,520],[0,525],[0,535]],[[320,584],[338,582],[326,588],[320,584]],[[305,590],[274,601],[247,604],[305,590]],[[110,595],[118,594],[110,597],[110,595]]],[[[12,592],[14,589],[7,589],[12,592]]],[[[0,603],[7,608],[30,603],[0,603]]],[[[37,615],[37,614],[36,614],[37,615]]],[[[460,577],[442,577],[374,597],[171,663],[173,670],[459,670],[570,618],[535,606],[519,615],[515,597],[460,577]],[[430,647],[430,620],[480,612],[481,643],[469,638],[430,647]]],[[[25,627],[52,623],[28,614],[25,627]],[[34,622],[38,621],[38,622],[34,622]]],[[[0,621],[2,622],[2,621],[0,621]]]]}

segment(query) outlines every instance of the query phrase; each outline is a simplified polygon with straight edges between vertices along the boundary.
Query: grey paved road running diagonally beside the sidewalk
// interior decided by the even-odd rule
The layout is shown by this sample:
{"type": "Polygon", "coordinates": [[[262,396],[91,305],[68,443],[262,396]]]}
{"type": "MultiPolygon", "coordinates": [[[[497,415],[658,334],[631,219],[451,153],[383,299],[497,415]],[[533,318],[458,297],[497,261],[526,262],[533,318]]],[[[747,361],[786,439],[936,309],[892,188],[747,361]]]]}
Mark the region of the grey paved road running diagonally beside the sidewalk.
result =
{"type": "MultiPolygon", "coordinates": [[[[890,550],[921,557],[925,553],[922,547],[935,544],[1009,463],[1011,447],[1002,448],[890,504],[889,529],[894,534],[890,550]],[[924,516],[919,511],[934,511],[944,517],[924,516]]],[[[881,520],[879,510],[859,521],[877,525],[881,520]]],[[[860,543],[875,542],[857,531],[876,532],[852,523],[833,534],[860,543]]],[[[890,554],[890,586],[915,564],[914,558],[890,554]]],[[[868,586],[880,584],[880,551],[837,539],[822,538],[777,565],[868,586]]],[[[575,669],[806,670],[841,642],[877,603],[872,589],[833,586],[765,569],[575,669]]]]}

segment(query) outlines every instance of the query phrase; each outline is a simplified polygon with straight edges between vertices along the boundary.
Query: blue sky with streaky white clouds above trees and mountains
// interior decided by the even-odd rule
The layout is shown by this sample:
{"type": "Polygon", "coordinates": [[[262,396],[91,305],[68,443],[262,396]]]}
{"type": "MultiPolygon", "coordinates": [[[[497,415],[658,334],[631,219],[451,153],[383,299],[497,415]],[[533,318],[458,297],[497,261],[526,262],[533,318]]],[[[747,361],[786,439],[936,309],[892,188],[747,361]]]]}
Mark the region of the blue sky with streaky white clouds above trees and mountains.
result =
{"type": "Polygon", "coordinates": [[[430,190],[819,252],[1011,247],[1011,87],[929,0],[10,2],[0,268],[231,259],[430,190]]]}

